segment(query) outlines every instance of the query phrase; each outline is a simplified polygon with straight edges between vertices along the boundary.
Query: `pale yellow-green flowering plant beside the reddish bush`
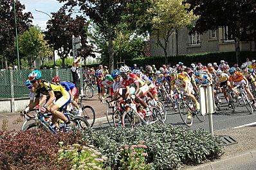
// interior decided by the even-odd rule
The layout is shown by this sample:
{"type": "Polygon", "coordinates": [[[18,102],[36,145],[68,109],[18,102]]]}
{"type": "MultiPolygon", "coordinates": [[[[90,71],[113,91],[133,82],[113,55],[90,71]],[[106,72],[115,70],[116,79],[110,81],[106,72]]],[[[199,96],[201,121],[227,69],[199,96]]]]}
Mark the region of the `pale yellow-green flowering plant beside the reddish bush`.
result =
{"type": "MultiPolygon", "coordinates": [[[[63,142],[59,142],[60,146],[63,142]]],[[[72,144],[62,146],[59,149],[59,160],[66,160],[73,167],[72,169],[102,169],[104,161],[107,157],[102,156],[102,153],[96,151],[94,146],[81,146],[80,144],[72,144]]]]}

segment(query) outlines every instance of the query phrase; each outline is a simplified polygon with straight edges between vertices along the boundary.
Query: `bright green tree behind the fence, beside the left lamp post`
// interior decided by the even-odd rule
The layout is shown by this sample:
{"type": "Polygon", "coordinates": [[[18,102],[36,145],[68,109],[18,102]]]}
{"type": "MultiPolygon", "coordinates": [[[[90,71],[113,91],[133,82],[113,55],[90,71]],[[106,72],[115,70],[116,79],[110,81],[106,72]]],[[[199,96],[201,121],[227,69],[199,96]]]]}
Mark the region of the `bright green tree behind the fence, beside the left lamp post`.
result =
{"type": "Polygon", "coordinates": [[[37,57],[48,53],[47,50],[46,41],[40,28],[33,26],[22,35],[19,35],[19,51],[28,60],[28,64],[31,67],[37,57]]]}

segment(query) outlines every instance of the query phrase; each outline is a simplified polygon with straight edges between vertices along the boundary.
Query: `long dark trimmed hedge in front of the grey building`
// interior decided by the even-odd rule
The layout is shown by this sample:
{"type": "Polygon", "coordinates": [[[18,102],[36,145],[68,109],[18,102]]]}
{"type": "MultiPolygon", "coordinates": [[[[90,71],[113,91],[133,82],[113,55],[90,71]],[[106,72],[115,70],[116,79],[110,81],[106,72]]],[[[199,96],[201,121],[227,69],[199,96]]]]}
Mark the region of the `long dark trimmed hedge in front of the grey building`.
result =
{"type": "MultiPolygon", "coordinates": [[[[249,57],[250,59],[256,56],[256,52],[254,51],[241,51],[241,60],[246,62],[246,58],[249,57]]],[[[208,63],[219,63],[221,60],[225,60],[228,62],[229,65],[236,64],[235,52],[225,52],[225,53],[199,53],[199,54],[192,54],[192,55],[184,55],[184,56],[169,56],[168,64],[176,65],[178,62],[183,62],[185,65],[190,65],[192,63],[201,62],[201,64],[208,64],[208,63]]],[[[163,56],[154,56],[154,57],[147,57],[147,58],[139,58],[134,60],[125,60],[125,64],[133,65],[137,64],[138,66],[145,65],[156,65],[156,67],[161,67],[161,65],[165,64],[165,58],[163,56]],[[156,62],[157,61],[157,62],[156,62]]]]}

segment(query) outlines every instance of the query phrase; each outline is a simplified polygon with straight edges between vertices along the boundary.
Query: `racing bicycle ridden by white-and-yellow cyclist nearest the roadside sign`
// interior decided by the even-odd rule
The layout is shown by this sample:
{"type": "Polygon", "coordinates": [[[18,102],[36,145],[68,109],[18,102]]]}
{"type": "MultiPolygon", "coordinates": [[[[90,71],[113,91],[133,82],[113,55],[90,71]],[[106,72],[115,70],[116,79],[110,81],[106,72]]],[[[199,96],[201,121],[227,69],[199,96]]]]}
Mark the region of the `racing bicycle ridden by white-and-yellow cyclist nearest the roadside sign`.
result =
{"type": "Polygon", "coordinates": [[[193,117],[197,117],[200,122],[205,121],[205,115],[199,115],[194,103],[191,99],[188,99],[184,92],[178,91],[178,100],[179,100],[179,115],[187,126],[192,126],[193,124],[193,117]],[[188,119],[190,117],[190,119],[188,119]]]}

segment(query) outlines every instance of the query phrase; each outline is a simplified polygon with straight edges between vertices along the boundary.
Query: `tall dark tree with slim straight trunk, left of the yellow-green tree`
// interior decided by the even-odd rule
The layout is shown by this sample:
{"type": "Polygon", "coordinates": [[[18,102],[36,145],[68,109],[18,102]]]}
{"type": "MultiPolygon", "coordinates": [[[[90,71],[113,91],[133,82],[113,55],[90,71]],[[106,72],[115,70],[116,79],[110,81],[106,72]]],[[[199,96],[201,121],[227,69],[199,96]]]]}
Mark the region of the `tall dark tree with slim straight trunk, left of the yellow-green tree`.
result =
{"type": "Polygon", "coordinates": [[[66,2],[65,6],[80,6],[84,12],[100,28],[105,35],[109,47],[109,70],[114,68],[113,40],[116,26],[122,21],[122,14],[126,11],[126,5],[130,0],[58,0],[66,2]]]}

